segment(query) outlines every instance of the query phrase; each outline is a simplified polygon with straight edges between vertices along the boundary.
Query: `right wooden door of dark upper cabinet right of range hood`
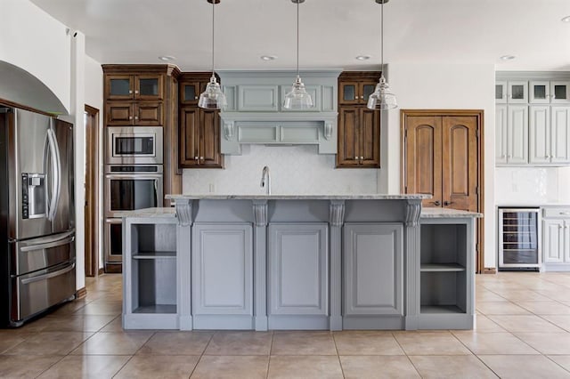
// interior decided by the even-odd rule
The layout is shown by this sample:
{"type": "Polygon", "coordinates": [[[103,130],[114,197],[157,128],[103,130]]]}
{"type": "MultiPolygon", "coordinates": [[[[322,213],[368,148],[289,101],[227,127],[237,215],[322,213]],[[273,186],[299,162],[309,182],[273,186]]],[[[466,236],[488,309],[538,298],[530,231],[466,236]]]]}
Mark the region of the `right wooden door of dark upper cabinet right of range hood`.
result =
{"type": "Polygon", "coordinates": [[[380,111],[362,107],[359,109],[360,164],[366,167],[380,166],[380,111]]]}

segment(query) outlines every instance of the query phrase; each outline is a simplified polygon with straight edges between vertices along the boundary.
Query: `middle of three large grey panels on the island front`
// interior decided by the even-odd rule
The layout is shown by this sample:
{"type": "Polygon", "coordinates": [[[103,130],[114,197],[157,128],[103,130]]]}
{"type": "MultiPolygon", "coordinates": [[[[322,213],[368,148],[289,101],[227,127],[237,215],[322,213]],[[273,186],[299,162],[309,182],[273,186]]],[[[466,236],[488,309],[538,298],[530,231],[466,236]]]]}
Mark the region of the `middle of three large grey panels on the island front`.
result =
{"type": "Polygon", "coordinates": [[[270,223],[270,329],[329,327],[328,224],[270,223]]]}

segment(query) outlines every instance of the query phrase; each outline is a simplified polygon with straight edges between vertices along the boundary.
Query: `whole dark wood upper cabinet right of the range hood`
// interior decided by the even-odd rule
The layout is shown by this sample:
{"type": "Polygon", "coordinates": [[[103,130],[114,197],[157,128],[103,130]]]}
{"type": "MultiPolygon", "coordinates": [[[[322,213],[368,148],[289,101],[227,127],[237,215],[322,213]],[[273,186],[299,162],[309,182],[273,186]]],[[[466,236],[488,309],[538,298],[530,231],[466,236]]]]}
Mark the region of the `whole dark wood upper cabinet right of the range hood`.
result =
{"type": "Polygon", "coordinates": [[[343,72],[338,77],[337,167],[380,166],[380,111],[366,108],[379,72],[343,72]]]}

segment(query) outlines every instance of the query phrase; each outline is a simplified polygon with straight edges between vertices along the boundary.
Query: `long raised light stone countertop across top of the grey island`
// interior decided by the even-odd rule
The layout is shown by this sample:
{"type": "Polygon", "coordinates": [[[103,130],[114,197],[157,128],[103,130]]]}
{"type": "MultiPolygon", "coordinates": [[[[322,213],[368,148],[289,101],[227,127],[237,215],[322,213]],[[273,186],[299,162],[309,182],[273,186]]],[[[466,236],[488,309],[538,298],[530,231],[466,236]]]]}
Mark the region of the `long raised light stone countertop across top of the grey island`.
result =
{"type": "Polygon", "coordinates": [[[191,199],[191,200],[405,200],[431,198],[430,195],[418,194],[346,194],[346,195],[217,195],[217,194],[185,194],[167,195],[169,199],[191,199]]]}

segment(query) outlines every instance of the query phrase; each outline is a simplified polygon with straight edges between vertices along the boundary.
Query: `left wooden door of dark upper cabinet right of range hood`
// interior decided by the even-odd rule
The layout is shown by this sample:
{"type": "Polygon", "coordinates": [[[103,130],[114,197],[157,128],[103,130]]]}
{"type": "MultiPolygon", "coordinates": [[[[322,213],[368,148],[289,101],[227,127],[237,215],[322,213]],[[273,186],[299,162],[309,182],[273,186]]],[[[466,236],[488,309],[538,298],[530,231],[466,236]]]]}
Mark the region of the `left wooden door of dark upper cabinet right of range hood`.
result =
{"type": "Polygon", "coordinates": [[[338,167],[354,167],[360,163],[360,109],[339,109],[338,122],[338,167]]]}

